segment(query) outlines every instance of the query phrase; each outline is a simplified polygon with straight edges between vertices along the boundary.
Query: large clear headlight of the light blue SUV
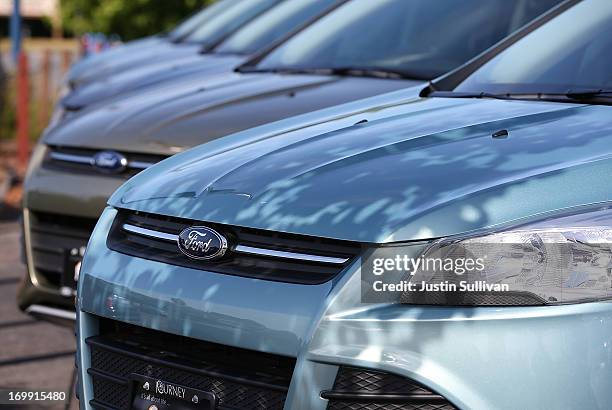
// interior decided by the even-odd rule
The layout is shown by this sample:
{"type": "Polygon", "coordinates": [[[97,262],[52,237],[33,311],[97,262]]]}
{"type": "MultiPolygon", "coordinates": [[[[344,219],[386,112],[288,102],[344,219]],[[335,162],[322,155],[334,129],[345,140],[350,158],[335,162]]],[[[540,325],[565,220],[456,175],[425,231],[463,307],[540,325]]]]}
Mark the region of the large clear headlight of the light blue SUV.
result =
{"type": "MultiPolygon", "coordinates": [[[[609,299],[612,210],[441,239],[419,254],[396,259],[408,262],[393,287],[406,304],[525,306],[609,299]]],[[[374,275],[382,277],[380,272],[374,275]]]]}

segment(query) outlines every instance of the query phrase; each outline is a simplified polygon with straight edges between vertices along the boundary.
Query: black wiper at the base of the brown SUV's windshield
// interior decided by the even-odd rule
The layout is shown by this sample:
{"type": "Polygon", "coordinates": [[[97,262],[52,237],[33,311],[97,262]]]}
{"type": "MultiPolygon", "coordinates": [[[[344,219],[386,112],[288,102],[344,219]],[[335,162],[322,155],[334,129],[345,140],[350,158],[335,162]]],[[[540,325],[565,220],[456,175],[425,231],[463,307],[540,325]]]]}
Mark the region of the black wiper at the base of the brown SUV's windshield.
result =
{"type": "Polygon", "coordinates": [[[347,77],[373,77],[373,78],[395,78],[427,81],[430,78],[419,75],[412,75],[399,70],[392,70],[380,67],[332,67],[332,68],[298,68],[298,67],[279,67],[279,68],[257,68],[241,67],[237,70],[240,73],[275,73],[275,74],[314,74],[314,75],[338,75],[347,77]]]}

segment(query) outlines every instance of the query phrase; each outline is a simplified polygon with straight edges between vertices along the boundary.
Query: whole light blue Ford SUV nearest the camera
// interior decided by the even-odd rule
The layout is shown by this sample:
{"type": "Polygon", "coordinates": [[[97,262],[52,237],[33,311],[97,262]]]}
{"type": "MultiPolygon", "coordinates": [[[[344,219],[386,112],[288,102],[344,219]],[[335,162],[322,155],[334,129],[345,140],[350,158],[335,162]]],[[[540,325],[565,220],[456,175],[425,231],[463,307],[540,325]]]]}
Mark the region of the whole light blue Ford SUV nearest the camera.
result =
{"type": "Polygon", "coordinates": [[[420,99],[132,178],[81,269],[81,406],[610,408],[610,56],[612,3],[565,3],[420,99]]]}

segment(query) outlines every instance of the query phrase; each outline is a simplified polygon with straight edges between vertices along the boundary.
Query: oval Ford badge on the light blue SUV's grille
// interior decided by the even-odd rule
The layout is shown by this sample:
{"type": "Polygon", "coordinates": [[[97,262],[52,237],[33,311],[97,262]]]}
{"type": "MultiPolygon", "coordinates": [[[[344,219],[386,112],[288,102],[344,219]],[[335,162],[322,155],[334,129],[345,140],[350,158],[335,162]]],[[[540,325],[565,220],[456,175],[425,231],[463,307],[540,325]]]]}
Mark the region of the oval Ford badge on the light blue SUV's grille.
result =
{"type": "Polygon", "coordinates": [[[205,226],[183,229],[177,241],[179,250],[192,259],[216,259],[227,251],[227,239],[205,226]]]}

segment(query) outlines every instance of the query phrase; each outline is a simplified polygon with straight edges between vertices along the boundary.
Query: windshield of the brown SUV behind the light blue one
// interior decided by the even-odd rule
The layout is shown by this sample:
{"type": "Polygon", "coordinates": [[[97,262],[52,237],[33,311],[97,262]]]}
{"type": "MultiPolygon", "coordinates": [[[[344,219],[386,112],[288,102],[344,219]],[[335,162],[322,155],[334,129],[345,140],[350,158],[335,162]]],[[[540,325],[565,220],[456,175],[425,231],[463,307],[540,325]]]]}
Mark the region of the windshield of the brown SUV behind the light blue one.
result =
{"type": "Polygon", "coordinates": [[[353,0],[265,57],[258,69],[354,67],[431,79],[560,0],[353,0]]]}

